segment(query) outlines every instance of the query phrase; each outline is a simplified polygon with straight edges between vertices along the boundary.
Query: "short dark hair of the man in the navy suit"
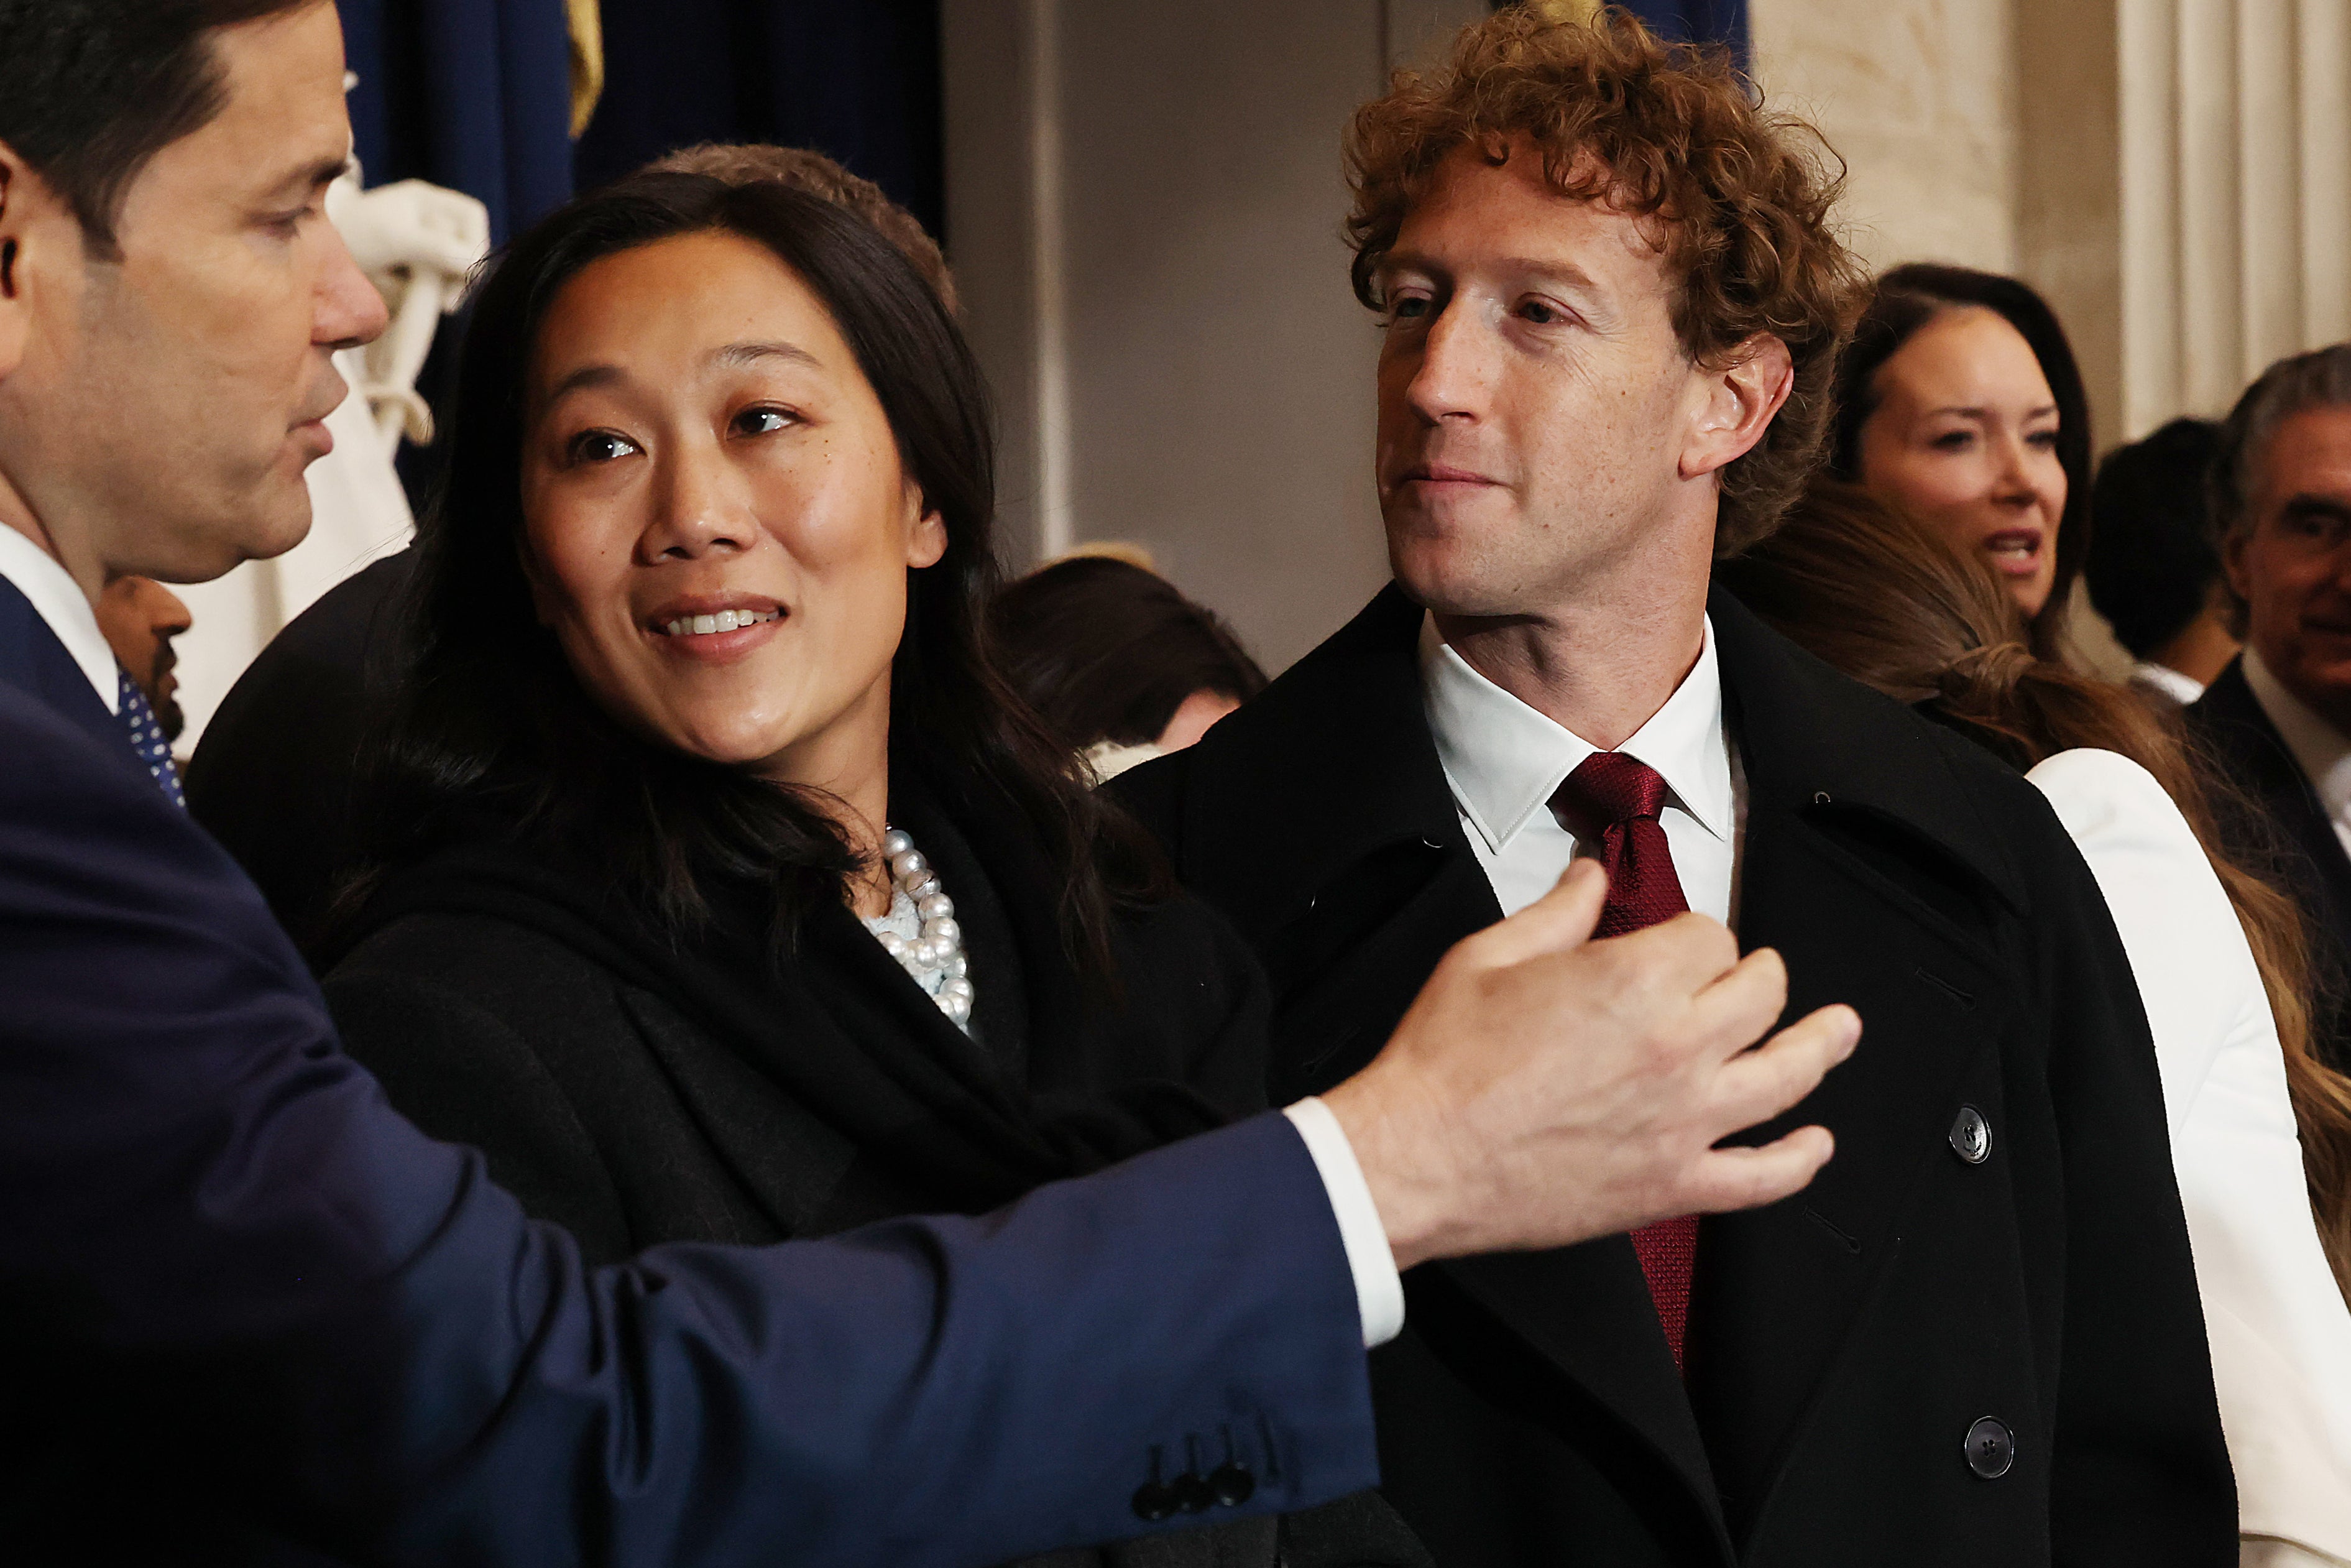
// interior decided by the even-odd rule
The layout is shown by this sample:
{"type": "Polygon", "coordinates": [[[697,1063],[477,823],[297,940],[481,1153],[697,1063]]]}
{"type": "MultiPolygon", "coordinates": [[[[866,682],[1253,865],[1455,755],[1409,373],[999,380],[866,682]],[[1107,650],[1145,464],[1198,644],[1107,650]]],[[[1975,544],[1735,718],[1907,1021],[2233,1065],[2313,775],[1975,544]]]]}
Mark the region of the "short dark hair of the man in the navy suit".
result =
{"type": "Polygon", "coordinates": [[[113,254],[122,195],[228,89],[212,31],[317,0],[0,0],[0,141],[113,254]]]}

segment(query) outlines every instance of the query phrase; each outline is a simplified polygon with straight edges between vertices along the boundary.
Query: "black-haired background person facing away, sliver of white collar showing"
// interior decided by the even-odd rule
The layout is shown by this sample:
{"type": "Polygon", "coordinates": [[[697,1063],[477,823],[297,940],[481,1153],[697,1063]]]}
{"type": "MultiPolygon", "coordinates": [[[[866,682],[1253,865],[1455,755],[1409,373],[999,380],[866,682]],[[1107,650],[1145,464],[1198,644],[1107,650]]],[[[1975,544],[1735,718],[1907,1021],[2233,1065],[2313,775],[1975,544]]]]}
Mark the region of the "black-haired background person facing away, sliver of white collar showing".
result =
{"type": "Polygon", "coordinates": [[[2132,689],[2170,710],[2201,698],[2238,651],[2205,503],[2215,451],[2219,423],[2175,418],[2109,451],[2090,489],[2090,604],[2137,661],[2132,689]]]}

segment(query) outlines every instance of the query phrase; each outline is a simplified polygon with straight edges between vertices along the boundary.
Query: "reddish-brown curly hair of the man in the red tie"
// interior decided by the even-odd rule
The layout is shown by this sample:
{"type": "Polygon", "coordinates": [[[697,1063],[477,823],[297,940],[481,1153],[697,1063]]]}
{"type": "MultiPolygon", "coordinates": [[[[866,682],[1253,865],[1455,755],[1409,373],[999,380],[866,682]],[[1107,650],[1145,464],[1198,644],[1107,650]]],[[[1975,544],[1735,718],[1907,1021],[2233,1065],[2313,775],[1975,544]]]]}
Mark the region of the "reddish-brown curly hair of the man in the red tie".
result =
{"type": "Polygon", "coordinates": [[[1862,266],[1829,228],[1843,162],[1803,120],[1766,113],[1726,49],[1662,45],[1639,19],[1545,21],[1531,7],[1462,28],[1434,73],[1399,71],[1347,129],[1354,292],[1460,146],[1505,162],[1526,139],[1568,197],[1650,221],[1676,277],[1674,331],[1697,364],[1730,364],[1756,334],[1796,376],[1763,440],[1721,473],[1719,557],[1768,536],[1810,477],[1829,428],[1836,353],[1862,266]]]}

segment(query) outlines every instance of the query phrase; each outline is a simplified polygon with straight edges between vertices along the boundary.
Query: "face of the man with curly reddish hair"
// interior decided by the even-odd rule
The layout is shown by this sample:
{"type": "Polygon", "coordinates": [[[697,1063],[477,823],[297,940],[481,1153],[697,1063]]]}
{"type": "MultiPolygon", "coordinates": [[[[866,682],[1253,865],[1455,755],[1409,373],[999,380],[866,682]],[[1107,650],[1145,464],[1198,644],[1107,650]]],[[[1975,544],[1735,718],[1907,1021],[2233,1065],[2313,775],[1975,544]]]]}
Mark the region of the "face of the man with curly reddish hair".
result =
{"type": "MultiPolygon", "coordinates": [[[[1531,143],[1465,146],[1380,282],[1380,510],[1418,602],[1540,616],[1653,548],[1702,388],[1646,223],[1559,195],[1531,143]]],[[[1712,512],[1697,543],[1702,574],[1712,512]]]]}

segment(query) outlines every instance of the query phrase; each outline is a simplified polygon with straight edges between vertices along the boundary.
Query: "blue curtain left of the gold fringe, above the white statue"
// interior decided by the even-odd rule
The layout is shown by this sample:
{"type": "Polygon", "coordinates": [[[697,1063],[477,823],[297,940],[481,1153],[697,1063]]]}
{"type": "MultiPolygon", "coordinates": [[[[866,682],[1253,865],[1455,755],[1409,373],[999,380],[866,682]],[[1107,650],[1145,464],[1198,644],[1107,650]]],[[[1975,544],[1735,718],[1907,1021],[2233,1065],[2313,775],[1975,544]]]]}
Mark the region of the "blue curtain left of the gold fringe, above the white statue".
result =
{"type": "Polygon", "coordinates": [[[562,0],[336,0],[360,85],[367,183],[480,197],[503,242],[571,195],[571,33],[562,0]]]}

